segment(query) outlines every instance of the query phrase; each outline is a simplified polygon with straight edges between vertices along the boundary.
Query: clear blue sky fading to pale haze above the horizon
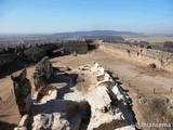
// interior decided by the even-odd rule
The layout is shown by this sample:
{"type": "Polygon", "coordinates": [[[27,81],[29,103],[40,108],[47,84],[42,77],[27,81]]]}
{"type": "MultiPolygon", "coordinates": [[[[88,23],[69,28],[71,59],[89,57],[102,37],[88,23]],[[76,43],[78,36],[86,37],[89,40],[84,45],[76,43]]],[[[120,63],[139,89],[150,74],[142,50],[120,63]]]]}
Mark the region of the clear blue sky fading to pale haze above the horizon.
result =
{"type": "Polygon", "coordinates": [[[0,32],[173,32],[173,0],[0,0],[0,32]]]}

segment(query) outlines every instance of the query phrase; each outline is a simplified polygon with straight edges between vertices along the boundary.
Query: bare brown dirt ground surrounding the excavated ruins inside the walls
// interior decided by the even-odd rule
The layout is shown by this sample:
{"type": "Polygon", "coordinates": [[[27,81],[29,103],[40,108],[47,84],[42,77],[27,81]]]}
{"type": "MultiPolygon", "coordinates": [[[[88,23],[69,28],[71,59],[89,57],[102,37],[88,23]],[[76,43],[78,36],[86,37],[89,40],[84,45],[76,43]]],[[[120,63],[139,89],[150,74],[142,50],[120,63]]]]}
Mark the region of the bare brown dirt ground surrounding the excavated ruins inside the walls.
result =
{"type": "MultiPolygon", "coordinates": [[[[51,58],[54,67],[69,66],[77,68],[80,65],[95,61],[107,70],[112,72],[112,76],[121,87],[128,91],[133,101],[133,110],[137,121],[141,123],[172,123],[173,108],[168,108],[168,100],[173,100],[173,75],[160,69],[149,69],[138,63],[124,61],[118,55],[110,55],[96,50],[83,55],[65,55],[51,58]],[[154,88],[156,92],[154,93],[154,88]]],[[[35,66],[27,68],[27,77],[31,79],[35,66]]],[[[82,76],[81,76],[82,77],[82,76]]],[[[18,125],[19,114],[15,104],[13,88],[10,76],[0,79],[0,130],[11,130],[18,125]]],[[[80,90],[80,89],[79,89],[80,90]]],[[[82,89],[88,91],[88,89],[82,89]]],[[[152,130],[159,128],[142,128],[142,130],[152,130]]],[[[171,130],[171,128],[160,128],[159,130],[171,130]]]]}

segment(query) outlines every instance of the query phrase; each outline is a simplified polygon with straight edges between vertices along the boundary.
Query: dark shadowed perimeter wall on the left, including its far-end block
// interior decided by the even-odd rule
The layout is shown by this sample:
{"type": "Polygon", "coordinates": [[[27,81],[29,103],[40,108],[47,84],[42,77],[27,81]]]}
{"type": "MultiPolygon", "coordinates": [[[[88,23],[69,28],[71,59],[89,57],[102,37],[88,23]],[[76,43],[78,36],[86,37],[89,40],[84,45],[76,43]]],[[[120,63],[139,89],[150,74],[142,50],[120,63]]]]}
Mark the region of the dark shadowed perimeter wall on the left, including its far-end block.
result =
{"type": "Polygon", "coordinates": [[[62,47],[69,53],[76,51],[78,54],[85,54],[88,52],[88,43],[82,41],[8,47],[0,49],[0,68],[8,66],[16,58],[25,62],[39,62],[43,56],[49,55],[50,50],[61,49],[62,47]]]}

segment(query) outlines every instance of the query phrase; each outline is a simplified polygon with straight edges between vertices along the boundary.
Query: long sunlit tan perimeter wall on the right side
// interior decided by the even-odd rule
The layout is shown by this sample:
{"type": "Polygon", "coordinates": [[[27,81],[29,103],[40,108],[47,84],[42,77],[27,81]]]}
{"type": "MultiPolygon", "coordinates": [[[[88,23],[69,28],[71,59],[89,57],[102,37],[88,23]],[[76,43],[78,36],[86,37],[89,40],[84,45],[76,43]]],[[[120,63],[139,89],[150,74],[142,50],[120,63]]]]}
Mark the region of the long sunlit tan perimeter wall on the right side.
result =
{"type": "Polygon", "coordinates": [[[144,65],[154,63],[158,68],[173,72],[173,53],[123,43],[102,43],[99,49],[107,53],[118,54],[127,60],[132,60],[144,65]]]}

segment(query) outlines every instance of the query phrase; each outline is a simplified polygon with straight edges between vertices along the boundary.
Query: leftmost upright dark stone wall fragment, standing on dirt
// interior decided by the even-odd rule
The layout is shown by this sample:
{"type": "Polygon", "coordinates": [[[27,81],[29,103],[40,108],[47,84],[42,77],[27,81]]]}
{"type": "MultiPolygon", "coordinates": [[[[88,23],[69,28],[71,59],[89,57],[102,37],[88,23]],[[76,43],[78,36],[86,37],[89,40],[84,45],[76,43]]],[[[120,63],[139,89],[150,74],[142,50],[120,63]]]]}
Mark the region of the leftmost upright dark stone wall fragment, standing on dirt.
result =
{"type": "Polygon", "coordinates": [[[28,114],[31,105],[31,84],[30,81],[26,78],[26,69],[23,69],[21,72],[14,73],[11,76],[11,79],[13,80],[16,104],[18,105],[21,116],[28,114]]]}

